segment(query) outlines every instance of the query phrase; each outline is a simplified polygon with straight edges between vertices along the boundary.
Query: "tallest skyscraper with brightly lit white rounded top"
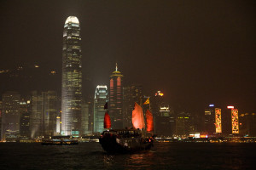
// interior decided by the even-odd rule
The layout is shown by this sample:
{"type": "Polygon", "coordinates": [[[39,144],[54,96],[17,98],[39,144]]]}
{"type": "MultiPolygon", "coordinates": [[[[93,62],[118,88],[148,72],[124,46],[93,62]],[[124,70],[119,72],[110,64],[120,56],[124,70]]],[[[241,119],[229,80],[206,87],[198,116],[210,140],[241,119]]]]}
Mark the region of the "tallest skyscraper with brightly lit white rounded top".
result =
{"type": "Polygon", "coordinates": [[[63,31],[61,134],[79,137],[82,105],[82,54],[79,20],[69,16],[63,31]]]}

